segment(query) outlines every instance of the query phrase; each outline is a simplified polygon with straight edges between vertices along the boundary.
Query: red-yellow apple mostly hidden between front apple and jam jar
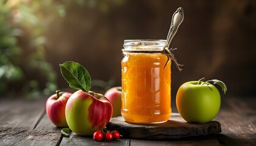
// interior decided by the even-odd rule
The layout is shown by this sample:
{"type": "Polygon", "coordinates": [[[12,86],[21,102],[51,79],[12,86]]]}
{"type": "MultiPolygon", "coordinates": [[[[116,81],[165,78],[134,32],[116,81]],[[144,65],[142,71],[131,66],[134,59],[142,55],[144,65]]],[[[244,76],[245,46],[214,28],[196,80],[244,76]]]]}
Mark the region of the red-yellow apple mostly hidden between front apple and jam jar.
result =
{"type": "Polygon", "coordinates": [[[117,86],[108,89],[107,92],[105,92],[105,97],[110,101],[110,103],[113,106],[113,115],[112,117],[118,117],[121,116],[121,108],[122,108],[122,87],[117,86]]]}

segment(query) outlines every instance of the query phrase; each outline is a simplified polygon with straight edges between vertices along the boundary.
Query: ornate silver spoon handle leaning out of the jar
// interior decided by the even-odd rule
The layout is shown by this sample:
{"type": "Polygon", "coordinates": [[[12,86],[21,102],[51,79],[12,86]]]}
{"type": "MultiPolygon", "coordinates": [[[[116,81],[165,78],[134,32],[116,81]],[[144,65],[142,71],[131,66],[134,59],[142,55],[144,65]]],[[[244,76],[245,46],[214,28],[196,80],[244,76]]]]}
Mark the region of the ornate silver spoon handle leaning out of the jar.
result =
{"type": "Polygon", "coordinates": [[[176,34],[180,24],[182,23],[184,19],[184,12],[182,7],[179,7],[176,12],[173,13],[172,15],[172,20],[171,20],[171,26],[167,35],[167,46],[169,47],[169,45],[171,44],[172,38],[174,37],[174,35],[176,34]]]}

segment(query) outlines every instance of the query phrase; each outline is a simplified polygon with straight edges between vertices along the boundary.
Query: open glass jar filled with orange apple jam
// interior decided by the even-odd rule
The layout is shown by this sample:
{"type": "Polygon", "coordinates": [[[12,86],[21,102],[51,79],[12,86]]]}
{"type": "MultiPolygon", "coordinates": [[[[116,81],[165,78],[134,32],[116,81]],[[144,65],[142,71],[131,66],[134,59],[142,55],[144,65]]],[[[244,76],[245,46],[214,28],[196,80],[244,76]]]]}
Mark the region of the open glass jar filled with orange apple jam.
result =
{"type": "Polygon", "coordinates": [[[171,60],[166,40],[124,40],[121,114],[130,123],[162,123],[171,116],[171,60]]]}

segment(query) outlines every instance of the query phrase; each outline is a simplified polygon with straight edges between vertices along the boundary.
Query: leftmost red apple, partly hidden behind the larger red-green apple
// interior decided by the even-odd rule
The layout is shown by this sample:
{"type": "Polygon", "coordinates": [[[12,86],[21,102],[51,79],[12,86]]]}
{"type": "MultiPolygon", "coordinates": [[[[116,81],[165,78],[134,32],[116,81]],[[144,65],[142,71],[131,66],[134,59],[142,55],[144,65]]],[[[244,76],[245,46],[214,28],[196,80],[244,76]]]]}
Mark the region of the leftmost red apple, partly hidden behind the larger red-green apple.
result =
{"type": "Polygon", "coordinates": [[[56,94],[46,101],[46,114],[57,127],[68,127],[66,123],[65,108],[71,93],[56,91],[56,94]]]}

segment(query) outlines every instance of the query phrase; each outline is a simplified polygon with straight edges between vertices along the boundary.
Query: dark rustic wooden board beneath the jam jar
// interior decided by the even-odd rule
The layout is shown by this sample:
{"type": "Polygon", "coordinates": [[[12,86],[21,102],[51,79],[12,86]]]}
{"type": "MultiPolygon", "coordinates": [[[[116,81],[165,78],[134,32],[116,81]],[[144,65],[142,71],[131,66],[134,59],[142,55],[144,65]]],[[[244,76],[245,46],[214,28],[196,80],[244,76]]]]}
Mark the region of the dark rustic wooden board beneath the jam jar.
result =
{"type": "Polygon", "coordinates": [[[107,125],[109,130],[118,130],[126,138],[133,139],[180,139],[183,137],[206,136],[220,133],[221,123],[188,123],[180,114],[172,113],[165,123],[134,124],[127,123],[123,117],[113,117],[107,125]]]}

